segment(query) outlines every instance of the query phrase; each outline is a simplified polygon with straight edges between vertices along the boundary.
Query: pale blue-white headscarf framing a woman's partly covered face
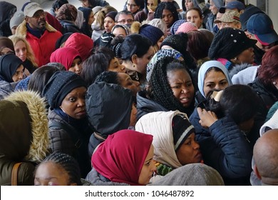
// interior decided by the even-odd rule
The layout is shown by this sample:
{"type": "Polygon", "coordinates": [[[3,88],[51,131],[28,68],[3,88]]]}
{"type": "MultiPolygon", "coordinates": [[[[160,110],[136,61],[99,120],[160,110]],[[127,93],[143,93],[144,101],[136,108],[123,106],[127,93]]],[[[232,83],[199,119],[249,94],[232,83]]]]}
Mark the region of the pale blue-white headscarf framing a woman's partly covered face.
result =
{"type": "Polygon", "coordinates": [[[202,66],[199,69],[199,73],[198,73],[198,89],[199,89],[200,93],[202,94],[202,96],[204,96],[204,97],[205,97],[205,93],[204,93],[205,74],[207,73],[207,70],[212,67],[221,69],[221,71],[226,76],[229,86],[232,85],[232,80],[230,78],[229,72],[227,71],[227,68],[222,63],[220,63],[220,61],[206,61],[204,64],[202,64],[202,66]]]}

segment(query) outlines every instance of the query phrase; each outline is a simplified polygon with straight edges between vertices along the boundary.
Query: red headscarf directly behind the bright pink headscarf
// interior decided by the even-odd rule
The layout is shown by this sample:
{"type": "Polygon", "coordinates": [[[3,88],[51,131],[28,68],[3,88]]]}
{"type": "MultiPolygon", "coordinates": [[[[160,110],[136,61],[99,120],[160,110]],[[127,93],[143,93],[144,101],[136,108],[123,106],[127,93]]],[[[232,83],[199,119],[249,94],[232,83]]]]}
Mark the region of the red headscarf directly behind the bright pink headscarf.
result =
{"type": "Polygon", "coordinates": [[[73,47],[81,55],[82,61],[85,61],[91,55],[93,49],[93,40],[80,33],[71,34],[65,42],[64,47],[73,47]]]}

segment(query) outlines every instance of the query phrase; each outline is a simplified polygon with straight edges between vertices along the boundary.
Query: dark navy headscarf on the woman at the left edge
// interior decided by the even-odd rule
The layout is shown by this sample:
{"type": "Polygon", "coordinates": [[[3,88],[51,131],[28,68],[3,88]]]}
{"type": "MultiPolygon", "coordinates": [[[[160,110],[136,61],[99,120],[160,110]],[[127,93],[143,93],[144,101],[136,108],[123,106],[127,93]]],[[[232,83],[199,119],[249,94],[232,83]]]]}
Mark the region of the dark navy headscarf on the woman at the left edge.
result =
{"type": "Polygon", "coordinates": [[[16,69],[23,64],[21,59],[14,54],[5,54],[0,57],[0,76],[9,83],[14,82],[13,75],[16,69]]]}

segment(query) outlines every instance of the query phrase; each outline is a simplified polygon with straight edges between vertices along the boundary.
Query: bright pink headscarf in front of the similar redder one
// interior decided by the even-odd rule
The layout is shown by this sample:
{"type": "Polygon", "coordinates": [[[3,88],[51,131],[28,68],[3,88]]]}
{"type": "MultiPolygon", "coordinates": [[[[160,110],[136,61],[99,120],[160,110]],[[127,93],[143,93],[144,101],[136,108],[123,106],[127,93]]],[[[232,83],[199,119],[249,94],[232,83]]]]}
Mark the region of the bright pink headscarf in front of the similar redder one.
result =
{"type": "Polygon", "coordinates": [[[51,54],[50,61],[63,64],[63,66],[66,67],[66,71],[68,71],[68,69],[71,68],[71,64],[73,64],[73,60],[76,59],[76,57],[81,58],[76,49],[73,49],[72,47],[62,47],[56,49],[56,51],[51,54]]]}

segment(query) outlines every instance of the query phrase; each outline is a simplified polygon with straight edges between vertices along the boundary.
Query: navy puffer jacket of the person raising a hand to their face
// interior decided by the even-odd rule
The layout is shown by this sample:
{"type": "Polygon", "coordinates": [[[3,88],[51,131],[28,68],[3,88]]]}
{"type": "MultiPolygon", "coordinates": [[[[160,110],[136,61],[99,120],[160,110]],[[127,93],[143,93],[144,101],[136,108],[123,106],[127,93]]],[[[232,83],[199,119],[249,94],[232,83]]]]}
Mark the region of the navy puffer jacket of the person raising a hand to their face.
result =
{"type": "Polygon", "coordinates": [[[206,129],[199,123],[197,109],[190,116],[195,139],[200,144],[205,164],[216,169],[225,185],[248,185],[252,171],[252,146],[235,121],[225,116],[206,129]]]}

